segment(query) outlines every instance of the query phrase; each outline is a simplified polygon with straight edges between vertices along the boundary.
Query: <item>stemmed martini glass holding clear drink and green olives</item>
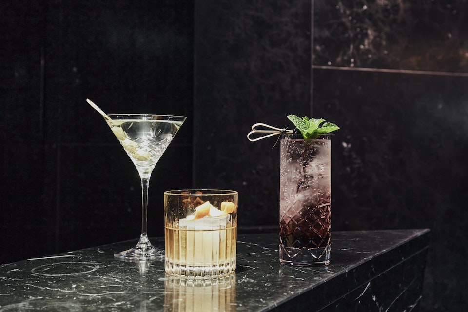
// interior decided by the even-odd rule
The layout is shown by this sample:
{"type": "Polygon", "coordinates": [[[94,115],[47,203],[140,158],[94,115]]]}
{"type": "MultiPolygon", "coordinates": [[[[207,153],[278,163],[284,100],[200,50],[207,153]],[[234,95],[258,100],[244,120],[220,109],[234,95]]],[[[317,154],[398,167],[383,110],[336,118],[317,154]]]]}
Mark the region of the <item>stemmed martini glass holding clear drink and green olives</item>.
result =
{"type": "Polygon", "coordinates": [[[141,235],[137,246],[114,254],[124,261],[162,260],[164,250],[153,246],[148,238],[148,186],[151,173],[171,143],[186,117],[172,115],[108,114],[103,115],[141,178],[141,235]]]}

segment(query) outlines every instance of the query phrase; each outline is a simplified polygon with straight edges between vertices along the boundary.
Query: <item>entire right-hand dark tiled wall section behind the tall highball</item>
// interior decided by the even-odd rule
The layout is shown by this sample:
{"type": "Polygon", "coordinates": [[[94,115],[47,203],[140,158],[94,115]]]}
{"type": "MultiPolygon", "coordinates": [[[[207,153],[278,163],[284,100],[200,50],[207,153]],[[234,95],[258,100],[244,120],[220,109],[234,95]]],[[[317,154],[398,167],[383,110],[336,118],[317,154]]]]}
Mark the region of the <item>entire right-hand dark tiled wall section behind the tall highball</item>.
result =
{"type": "Polygon", "coordinates": [[[233,2],[195,3],[195,184],[239,190],[241,228],[273,230],[279,151],[251,125],[336,122],[332,228],[430,228],[418,306],[464,307],[468,3],[233,2]]]}

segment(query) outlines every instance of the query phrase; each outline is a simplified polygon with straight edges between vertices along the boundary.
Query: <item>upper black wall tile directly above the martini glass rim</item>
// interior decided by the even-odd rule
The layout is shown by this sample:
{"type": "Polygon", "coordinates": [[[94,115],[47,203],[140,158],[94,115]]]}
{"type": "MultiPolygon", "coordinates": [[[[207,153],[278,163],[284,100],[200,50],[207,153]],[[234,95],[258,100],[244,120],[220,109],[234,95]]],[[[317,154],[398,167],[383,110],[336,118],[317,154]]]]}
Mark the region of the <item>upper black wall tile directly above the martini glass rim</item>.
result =
{"type": "Polygon", "coordinates": [[[191,117],[190,1],[119,1],[109,6],[60,2],[51,3],[47,12],[46,113],[51,136],[59,132],[58,139],[65,143],[109,141],[96,131],[103,120],[86,98],[108,114],[191,117]]]}

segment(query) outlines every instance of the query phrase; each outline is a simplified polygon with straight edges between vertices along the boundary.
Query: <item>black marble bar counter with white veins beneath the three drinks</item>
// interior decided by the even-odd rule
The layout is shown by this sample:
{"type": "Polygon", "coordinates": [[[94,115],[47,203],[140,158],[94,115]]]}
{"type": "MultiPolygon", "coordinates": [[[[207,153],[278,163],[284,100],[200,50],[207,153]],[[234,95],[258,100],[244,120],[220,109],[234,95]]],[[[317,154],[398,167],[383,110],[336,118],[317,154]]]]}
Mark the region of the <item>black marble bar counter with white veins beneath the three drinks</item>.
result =
{"type": "Polygon", "coordinates": [[[334,232],[331,264],[316,268],[280,264],[277,239],[240,235],[235,274],[204,286],[166,275],[162,262],[113,258],[133,241],[4,264],[0,311],[190,311],[194,297],[214,300],[204,311],[219,298],[223,311],[404,311],[420,300],[428,230],[334,232]]]}

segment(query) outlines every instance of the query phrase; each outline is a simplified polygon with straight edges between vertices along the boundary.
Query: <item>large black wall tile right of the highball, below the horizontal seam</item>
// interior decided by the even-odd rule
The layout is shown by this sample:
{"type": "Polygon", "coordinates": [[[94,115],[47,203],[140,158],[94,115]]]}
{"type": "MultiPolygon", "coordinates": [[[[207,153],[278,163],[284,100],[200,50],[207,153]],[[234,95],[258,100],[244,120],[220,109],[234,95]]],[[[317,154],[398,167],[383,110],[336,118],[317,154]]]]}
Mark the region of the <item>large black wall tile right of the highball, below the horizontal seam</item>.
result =
{"type": "Polygon", "coordinates": [[[332,141],[332,228],[431,228],[423,305],[460,304],[468,275],[453,272],[467,256],[468,78],[314,74],[314,113],[341,126],[332,141]]]}

